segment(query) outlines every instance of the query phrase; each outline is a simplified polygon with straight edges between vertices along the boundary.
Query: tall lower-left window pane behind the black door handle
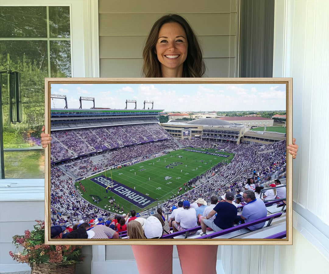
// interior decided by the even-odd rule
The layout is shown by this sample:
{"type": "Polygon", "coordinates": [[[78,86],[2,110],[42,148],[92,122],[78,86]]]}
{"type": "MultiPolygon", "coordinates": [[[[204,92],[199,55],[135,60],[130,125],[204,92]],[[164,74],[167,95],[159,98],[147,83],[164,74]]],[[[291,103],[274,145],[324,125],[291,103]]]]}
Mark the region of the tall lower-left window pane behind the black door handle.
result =
{"type": "Polygon", "coordinates": [[[42,178],[44,151],[8,151],[40,147],[44,124],[44,77],[48,76],[47,41],[0,41],[0,70],[21,73],[22,123],[9,117],[7,74],[2,74],[4,165],[6,178],[42,178]],[[9,55],[9,60],[8,60],[9,55]]]}

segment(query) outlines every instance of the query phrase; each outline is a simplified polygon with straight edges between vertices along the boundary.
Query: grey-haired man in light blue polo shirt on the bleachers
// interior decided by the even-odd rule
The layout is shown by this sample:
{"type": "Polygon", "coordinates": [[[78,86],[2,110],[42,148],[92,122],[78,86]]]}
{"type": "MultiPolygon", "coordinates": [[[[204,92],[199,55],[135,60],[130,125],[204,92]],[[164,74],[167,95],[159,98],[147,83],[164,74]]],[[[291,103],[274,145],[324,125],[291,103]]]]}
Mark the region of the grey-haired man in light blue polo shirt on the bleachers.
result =
{"type": "MultiPolygon", "coordinates": [[[[255,197],[255,193],[252,190],[243,191],[243,199],[247,203],[243,206],[242,213],[237,217],[235,222],[241,221],[242,223],[249,223],[251,221],[255,221],[257,219],[261,219],[267,216],[267,210],[265,203],[255,197]]],[[[260,223],[257,225],[253,225],[248,227],[250,230],[257,230],[264,227],[264,223],[260,223]]]]}

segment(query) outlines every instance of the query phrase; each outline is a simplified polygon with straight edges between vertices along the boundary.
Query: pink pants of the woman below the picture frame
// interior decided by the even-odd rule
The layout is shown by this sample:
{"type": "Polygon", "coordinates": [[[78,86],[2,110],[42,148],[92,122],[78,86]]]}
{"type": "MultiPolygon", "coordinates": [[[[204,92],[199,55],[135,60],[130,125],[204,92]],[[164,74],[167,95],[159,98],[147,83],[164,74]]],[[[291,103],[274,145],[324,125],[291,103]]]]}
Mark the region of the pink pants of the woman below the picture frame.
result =
{"type": "MultiPolygon", "coordinates": [[[[172,274],[172,245],[132,245],[139,274],[172,274]]],[[[216,273],[217,245],[178,245],[183,274],[216,273]]]]}

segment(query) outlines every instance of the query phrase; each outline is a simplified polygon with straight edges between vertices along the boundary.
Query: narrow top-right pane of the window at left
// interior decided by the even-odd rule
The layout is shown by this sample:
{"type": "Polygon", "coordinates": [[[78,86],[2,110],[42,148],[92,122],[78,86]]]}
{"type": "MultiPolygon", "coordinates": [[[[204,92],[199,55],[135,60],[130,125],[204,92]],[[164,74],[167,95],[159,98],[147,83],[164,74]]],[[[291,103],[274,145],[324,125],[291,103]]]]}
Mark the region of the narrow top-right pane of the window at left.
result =
{"type": "Polygon", "coordinates": [[[70,7],[49,7],[49,37],[70,37],[70,7]]]}

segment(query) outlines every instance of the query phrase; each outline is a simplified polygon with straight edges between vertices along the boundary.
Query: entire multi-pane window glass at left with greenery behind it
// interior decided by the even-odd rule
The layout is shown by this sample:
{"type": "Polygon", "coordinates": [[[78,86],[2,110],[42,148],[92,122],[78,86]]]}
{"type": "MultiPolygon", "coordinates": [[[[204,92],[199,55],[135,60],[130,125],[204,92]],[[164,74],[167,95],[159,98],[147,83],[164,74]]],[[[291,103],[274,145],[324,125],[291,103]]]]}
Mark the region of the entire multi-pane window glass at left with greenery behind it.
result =
{"type": "Polygon", "coordinates": [[[1,7],[0,23],[0,70],[20,72],[23,114],[21,123],[11,123],[8,74],[2,73],[5,178],[44,178],[44,78],[71,76],[69,8],[1,7]],[[60,40],[47,35],[47,17],[49,33],[60,40]]]}

